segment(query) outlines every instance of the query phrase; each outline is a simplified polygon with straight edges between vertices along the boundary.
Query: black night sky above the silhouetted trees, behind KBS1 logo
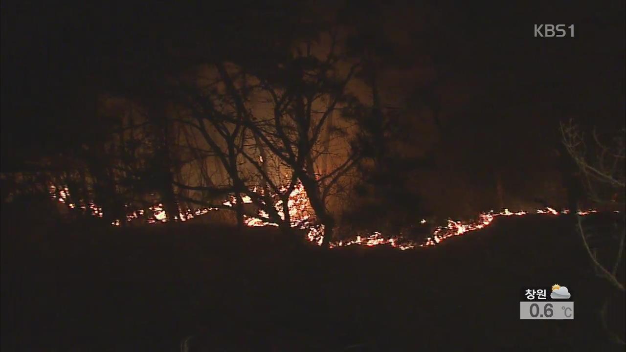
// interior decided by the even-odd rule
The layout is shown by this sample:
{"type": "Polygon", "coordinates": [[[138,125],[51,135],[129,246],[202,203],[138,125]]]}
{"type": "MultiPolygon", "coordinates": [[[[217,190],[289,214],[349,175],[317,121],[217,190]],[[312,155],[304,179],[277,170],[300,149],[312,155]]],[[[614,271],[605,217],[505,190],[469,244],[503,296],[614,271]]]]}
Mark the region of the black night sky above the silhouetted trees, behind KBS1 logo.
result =
{"type": "MultiPolygon", "coordinates": [[[[303,6],[317,14],[331,4],[303,6]]],[[[272,36],[294,26],[297,19],[285,18],[302,11],[280,2],[222,6],[228,8],[3,1],[3,170],[23,153],[31,158],[76,143],[96,93],[127,91],[156,70],[202,60],[172,53],[203,41],[251,28],[272,36]]],[[[614,124],[624,114],[623,1],[352,1],[342,13],[341,21],[377,26],[398,44],[389,68],[426,72],[387,83],[406,105],[424,92],[438,101],[445,148],[517,148],[528,153],[513,160],[524,159],[553,142],[545,137],[556,137],[559,120],[614,124]],[[535,38],[535,23],[575,24],[574,38],[535,38]]]]}

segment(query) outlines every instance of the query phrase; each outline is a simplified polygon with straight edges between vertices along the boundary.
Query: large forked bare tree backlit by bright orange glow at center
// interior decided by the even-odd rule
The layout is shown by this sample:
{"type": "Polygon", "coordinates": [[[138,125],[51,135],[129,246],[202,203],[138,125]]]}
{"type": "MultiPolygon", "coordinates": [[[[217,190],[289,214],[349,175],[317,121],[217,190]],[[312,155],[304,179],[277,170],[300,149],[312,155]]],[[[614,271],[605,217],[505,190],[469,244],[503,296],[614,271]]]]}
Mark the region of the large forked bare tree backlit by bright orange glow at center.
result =
{"type": "Polygon", "coordinates": [[[348,100],[346,85],[359,67],[337,53],[336,34],[329,38],[330,49],[322,58],[312,53],[314,43],[305,42],[278,62],[215,60],[210,65],[215,80],[178,89],[185,91],[180,103],[186,110],[178,121],[199,133],[219,158],[235,197],[247,195],[289,230],[289,195],[302,184],[324,225],[326,243],[335,227],[327,197],[359,158],[357,150],[347,148],[340,162],[326,165],[325,174],[316,165],[327,153],[328,140],[338,137],[328,135],[327,122],[348,100]],[[275,209],[279,202],[281,211],[275,209]]]}

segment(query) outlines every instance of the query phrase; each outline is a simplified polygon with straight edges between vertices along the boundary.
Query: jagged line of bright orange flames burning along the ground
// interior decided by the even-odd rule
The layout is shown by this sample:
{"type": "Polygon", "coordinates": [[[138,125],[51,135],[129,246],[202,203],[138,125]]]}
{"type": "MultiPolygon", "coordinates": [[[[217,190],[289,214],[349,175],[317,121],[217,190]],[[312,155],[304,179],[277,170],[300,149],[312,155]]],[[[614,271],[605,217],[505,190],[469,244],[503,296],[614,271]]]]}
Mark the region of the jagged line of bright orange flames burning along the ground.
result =
{"type": "MultiPolygon", "coordinates": [[[[280,192],[286,192],[287,187],[282,187],[280,192]]],[[[257,192],[257,189],[252,189],[252,192],[257,192]]],[[[259,192],[260,193],[260,192],[259,192]]],[[[69,208],[74,209],[76,204],[69,202],[69,189],[68,187],[50,187],[50,194],[53,199],[57,199],[58,202],[68,205],[69,208]]],[[[252,199],[249,195],[244,195],[241,197],[242,203],[252,203],[252,199]]],[[[234,196],[230,197],[230,200],[225,200],[222,204],[227,207],[232,207],[237,203],[237,199],[234,196]]],[[[285,215],[282,207],[282,200],[278,200],[274,205],[277,213],[279,214],[281,219],[285,219],[285,215]]],[[[90,209],[91,215],[96,217],[103,217],[102,209],[93,203],[83,204],[81,205],[81,209],[90,209]]],[[[320,224],[316,224],[314,222],[314,214],[310,207],[309,197],[304,189],[304,186],[298,182],[294,185],[292,192],[289,194],[289,199],[287,203],[287,208],[289,209],[289,217],[291,227],[305,229],[308,230],[307,239],[310,242],[314,242],[319,246],[322,245],[324,239],[324,226],[320,224]]],[[[167,222],[169,220],[165,209],[163,208],[163,204],[156,204],[149,208],[153,212],[153,217],[146,220],[149,224],[156,224],[159,222],[167,222]]],[[[204,208],[204,209],[187,209],[185,212],[179,210],[178,216],[175,216],[175,219],[180,219],[181,221],[186,221],[189,219],[193,219],[202,214],[207,214],[212,210],[218,210],[218,208],[204,208]]],[[[585,216],[588,214],[592,214],[597,212],[597,210],[581,210],[578,211],[577,214],[580,216],[585,216]]],[[[559,214],[569,214],[570,210],[556,210],[551,207],[546,207],[545,209],[536,209],[535,214],[546,214],[546,215],[559,215],[559,214]]],[[[343,241],[334,241],[329,244],[330,248],[335,247],[344,247],[344,246],[352,246],[352,245],[361,245],[361,246],[380,246],[380,245],[389,245],[394,248],[398,248],[401,250],[413,249],[415,247],[428,247],[434,246],[436,244],[445,241],[454,236],[461,236],[467,234],[468,232],[472,232],[475,230],[484,229],[488,225],[493,222],[493,220],[498,216],[523,216],[526,214],[530,214],[529,212],[520,210],[518,212],[511,212],[509,209],[503,209],[500,212],[494,212],[490,210],[489,212],[484,212],[478,215],[478,219],[470,221],[470,222],[461,222],[454,221],[448,219],[448,224],[445,226],[439,226],[434,229],[432,236],[426,238],[426,241],[419,243],[414,241],[408,241],[400,236],[392,236],[385,237],[381,234],[381,232],[374,231],[371,234],[367,234],[366,236],[357,235],[352,240],[343,240],[343,241]]],[[[141,215],[144,215],[143,210],[135,210],[131,212],[130,215],[126,216],[126,221],[131,221],[134,219],[138,219],[141,215]]],[[[244,215],[244,223],[249,227],[259,227],[259,226],[278,226],[272,222],[263,210],[259,210],[257,216],[250,217],[244,215]]],[[[426,219],[419,220],[420,224],[425,224],[426,219]]],[[[112,225],[119,226],[121,224],[120,220],[114,220],[111,222],[112,225]]]]}

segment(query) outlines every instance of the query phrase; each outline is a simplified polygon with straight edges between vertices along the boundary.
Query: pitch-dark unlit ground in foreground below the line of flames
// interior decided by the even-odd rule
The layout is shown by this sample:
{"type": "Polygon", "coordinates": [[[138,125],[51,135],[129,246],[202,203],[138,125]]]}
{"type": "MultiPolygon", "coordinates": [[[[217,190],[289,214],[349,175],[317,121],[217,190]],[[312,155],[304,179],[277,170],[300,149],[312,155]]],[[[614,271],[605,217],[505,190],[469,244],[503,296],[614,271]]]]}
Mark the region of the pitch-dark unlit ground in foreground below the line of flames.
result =
{"type": "MultiPolygon", "coordinates": [[[[321,251],[274,229],[96,229],[3,214],[3,351],[620,351],[623,294],[565,217],[498,218],[413,251],[321,251]],[[573,321],[520,321],[523,286],[562,284],[573,321]]],[[[622,270],[623,272],[623,270],[622,270]]]]}

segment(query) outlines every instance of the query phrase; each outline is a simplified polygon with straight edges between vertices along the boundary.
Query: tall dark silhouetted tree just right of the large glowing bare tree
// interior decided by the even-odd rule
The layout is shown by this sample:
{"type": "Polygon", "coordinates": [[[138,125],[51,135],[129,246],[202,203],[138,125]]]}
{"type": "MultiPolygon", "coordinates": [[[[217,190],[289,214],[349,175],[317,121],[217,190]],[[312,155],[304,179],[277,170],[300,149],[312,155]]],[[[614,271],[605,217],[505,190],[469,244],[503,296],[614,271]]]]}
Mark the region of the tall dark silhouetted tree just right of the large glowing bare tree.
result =
{"type": "MultiPolygon", "coordinates": [[[[348,22],[351,22],[348,19],[348,22]]],[[[354,18],[352,18],[352,22],[354,18]]],[[[371,90],[371,105],[356,104],[344,110],[344,117],[358,126],[354,147],[361,152],[357,164],[359,180],[353,195],[359,204],[346,210],[344,220],[361,230],[381,230],[398,235],[402,229],[419,224],[426,217],[418,185],[410,175],[428,165],[426,158],[409,156],[414,133],[408,125],[406,106],[389,106],[382,101],[380,80],[386,68],[403,65],[394,55],[396,46],[382,30],[381,24],[366,19],[354,23],[348,49],[361,59],[357,78],[371,90]]]]}

